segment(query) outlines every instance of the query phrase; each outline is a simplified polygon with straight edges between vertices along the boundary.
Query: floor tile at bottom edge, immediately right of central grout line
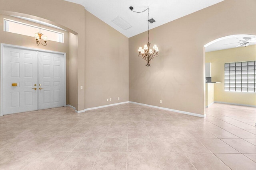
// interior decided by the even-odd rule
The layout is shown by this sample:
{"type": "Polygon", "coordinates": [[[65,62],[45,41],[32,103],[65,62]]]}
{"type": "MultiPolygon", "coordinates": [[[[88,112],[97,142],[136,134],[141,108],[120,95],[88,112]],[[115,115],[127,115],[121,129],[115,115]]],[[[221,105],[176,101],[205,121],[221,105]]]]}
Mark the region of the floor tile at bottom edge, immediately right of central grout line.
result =
{"type": "Polygon", "coordinates": [[[160,170],[160,165],[155,153],[128,152],[127,170],[160,170]]]}

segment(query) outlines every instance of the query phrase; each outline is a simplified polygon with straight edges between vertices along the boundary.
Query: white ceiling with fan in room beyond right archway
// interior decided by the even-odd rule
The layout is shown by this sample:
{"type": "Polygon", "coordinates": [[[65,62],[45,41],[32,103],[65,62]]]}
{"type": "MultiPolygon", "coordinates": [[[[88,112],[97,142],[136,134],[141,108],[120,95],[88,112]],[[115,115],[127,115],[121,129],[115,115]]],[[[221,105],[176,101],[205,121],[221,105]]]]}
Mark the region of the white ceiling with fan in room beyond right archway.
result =
{"type": "MultiPolygon", "coordinates": [[[[256,38],[255,35],[247,35],[247,34],[229,35],[226,37],[215,39],[214,41],[204,45],[204,47],[206,47],[205,51],[210,52],[210,51],[242,47],[239,44],[241,43],[240,40],[244,41],[244,39],[242,39],[243,37],[250,37],[251,39],[256,38]]],[[[255,45],[255,44],[256,44],[255,40],[251,41],[251,43],[250,43],[250,45],[255,45]]]]}

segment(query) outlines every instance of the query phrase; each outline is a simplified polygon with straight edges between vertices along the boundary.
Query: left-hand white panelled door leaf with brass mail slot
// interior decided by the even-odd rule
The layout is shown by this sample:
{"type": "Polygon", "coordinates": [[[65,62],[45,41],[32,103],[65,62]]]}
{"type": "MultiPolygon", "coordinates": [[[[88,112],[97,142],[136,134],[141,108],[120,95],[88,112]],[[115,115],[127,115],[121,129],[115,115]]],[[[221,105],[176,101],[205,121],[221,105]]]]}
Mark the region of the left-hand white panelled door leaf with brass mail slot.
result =
{"type": "Polygon", "coordinates": [[[19,113],[37,109],[37,52],[5,47],[3,53],[3,112],[19,113]],[[16,83],[17,86],[12,86],[16,83]]]}

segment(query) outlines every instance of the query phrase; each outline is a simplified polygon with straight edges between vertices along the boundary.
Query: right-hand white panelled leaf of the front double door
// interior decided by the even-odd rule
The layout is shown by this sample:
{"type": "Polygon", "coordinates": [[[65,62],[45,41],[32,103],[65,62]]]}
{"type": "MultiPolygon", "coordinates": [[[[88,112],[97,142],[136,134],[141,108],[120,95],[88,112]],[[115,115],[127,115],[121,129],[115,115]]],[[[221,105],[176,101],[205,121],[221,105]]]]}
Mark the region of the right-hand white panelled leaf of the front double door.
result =
{"type": "Polygon", "coordinates": [[[39,109],[64,106],[63,54],[38,52],[38,59],[39,109]]]}

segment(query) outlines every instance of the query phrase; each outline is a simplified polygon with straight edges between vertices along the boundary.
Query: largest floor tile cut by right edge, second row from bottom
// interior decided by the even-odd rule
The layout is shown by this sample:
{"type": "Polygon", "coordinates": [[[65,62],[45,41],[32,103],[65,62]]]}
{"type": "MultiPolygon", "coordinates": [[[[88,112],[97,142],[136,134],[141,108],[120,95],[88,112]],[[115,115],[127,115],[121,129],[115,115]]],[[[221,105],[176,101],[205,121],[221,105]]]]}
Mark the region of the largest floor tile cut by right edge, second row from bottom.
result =
{"type": "Polygon", "coordinates": [[[242,154],[256,154],[256,146],[243,139],[221,139],[242,154]]]}

